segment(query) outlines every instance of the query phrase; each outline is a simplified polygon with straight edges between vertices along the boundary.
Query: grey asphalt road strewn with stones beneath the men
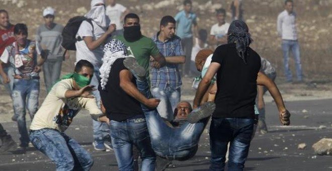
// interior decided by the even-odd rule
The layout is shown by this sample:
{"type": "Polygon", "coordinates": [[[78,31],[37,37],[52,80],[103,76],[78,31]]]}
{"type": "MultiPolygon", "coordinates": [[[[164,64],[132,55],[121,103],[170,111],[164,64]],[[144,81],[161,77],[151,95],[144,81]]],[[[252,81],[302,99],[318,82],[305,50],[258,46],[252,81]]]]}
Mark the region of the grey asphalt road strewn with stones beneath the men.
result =
{"type": "MultiPolygon", "coordinates": [[[[332,138],[331,104],[332,100],[286,102],[292,113],[291,126],[288,127],[279,124],[275,105],[266,104],[270,132],[265,135],[257,134],[252,141],[245,170],[332,170],[332,156],[315,155],[311,148],[313,143],[323,137],[332,138]],[[326,128],[319,129],[321,125],[326,128]],[[307,148],[297,149],[297,145],[302,142],[307,144],[307,148]]],[[[91,122],[90,116],[82,112],[66,133],[92,153],[95,160],[92,170],[117,170],[113,151],[93,150],[91,122]]],[[[16,123],[7,122],[3,126],[18,142],[16,123]]],[[[166,170],[207,170],[210,157],[208,138],[208,134],[203,133],[195,157],[187,161],[173,161],[166,170]]],[[[0,154],[0,170],[54,169],[54,164],[33,147],[29,148],[26,154],[0,154]]]]}

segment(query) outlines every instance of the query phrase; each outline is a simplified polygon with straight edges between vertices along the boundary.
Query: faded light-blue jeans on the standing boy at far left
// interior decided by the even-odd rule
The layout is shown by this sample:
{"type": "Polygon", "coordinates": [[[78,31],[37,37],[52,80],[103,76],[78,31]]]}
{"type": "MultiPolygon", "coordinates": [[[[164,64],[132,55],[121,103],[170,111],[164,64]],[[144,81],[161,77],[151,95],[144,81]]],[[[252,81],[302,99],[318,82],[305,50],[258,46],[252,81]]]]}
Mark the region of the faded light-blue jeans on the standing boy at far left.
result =
{"type": "Polygon", "coordinates": [[[29,137],[25,120],[26,109],[28,109],[32,120],[38,110],[39,79],[14,79],[12,97],[14,114],[21,135],[21,146],[27,147],[29,137]]]}

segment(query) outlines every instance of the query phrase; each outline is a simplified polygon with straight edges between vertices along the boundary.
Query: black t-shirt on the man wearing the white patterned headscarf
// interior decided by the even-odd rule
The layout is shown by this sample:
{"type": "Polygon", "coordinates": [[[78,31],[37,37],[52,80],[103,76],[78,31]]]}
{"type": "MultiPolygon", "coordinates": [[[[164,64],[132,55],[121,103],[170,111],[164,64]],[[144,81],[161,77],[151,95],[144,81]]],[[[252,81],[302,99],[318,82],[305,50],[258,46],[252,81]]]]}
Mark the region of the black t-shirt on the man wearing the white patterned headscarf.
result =
{"type": "MultiPolygon", "coordinates": [[[[143,116],[140,103],[120,87],[120,71],[127,69],[123,60],[120,58],[113,63],[105,90],[100,85],[98,87],[107,117],[118,122],[143,116]]],[[[135,78],[131,81],[136,85],[135,78]]]]}

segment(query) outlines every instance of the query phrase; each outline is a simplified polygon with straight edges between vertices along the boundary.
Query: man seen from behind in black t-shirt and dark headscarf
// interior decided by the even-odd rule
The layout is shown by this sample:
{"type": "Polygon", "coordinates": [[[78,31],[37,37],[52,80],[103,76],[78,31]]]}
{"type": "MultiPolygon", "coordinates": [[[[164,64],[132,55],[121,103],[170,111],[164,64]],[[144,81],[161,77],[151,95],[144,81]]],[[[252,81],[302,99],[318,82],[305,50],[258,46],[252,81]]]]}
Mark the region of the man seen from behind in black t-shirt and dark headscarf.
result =
{"type": "Polygon", "coordinates": [[[290,114],[276,84],[259,72],[261,59],[249,47],[252,39],[247,25],[243,21],[233,21],[227,36],[228,44],[218,46],[213,53],[211,64],[198,86],[193,104],[195,109],[217,73],[216,110],[212,114],[210,126],[210,170],[224,170],[228,142],[228,169],[244,168],[254,128],[257,84],[265,85],[270,91],[278,106],[281,123],[290,124],[290,114]]]}

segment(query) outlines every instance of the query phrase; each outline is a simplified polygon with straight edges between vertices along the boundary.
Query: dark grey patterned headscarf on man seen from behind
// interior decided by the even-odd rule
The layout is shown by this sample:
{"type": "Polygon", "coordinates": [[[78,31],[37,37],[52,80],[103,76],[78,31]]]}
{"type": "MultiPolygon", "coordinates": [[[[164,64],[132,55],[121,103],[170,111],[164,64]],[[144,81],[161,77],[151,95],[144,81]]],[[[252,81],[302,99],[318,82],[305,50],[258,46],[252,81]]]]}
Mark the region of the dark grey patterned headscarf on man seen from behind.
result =
{"type": "Polygon", "coordinates": [[[234,20],[228,28],[227,42],[236,44],[236,52],[238,56],[246,64],[245,57],[248,55],[247,48],[253,42],[249,33],[248,26],[241,20],[234,20]]]}

